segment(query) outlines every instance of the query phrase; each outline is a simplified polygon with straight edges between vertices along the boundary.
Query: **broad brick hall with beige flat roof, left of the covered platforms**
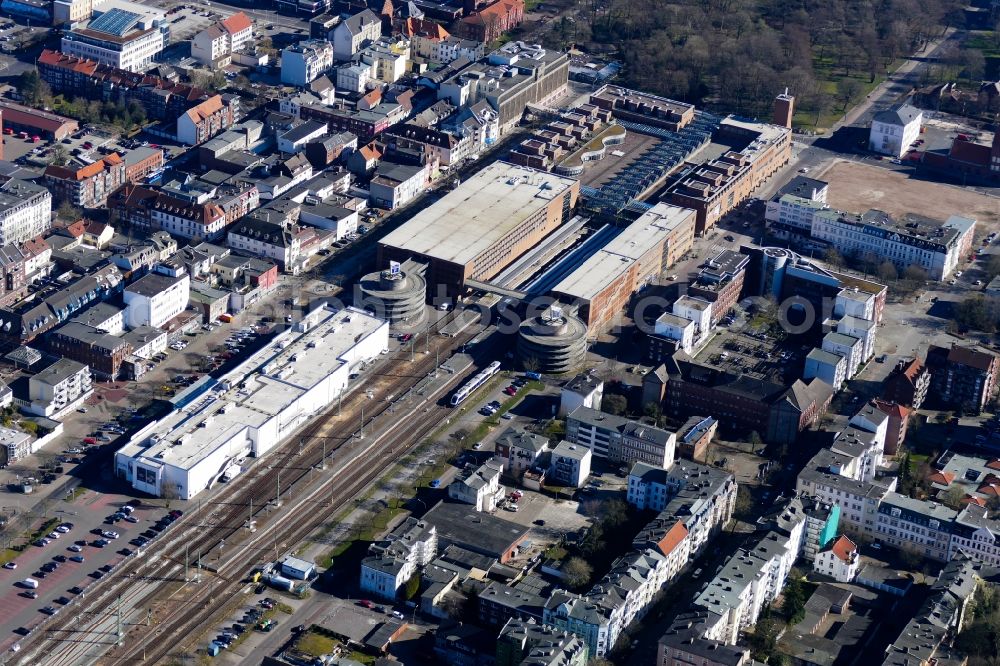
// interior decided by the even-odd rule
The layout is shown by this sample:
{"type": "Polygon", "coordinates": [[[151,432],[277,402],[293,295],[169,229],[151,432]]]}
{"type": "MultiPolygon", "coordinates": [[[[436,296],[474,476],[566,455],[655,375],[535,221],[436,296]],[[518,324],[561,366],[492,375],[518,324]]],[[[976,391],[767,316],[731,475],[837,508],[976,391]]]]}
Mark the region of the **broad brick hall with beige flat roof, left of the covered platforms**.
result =
{"type": "Polygon", "coordinates": [[[494,162],[379,242],[379,265],[427,264],[428,292],[489,280],[571,217],[572,178],[494,162]]]}

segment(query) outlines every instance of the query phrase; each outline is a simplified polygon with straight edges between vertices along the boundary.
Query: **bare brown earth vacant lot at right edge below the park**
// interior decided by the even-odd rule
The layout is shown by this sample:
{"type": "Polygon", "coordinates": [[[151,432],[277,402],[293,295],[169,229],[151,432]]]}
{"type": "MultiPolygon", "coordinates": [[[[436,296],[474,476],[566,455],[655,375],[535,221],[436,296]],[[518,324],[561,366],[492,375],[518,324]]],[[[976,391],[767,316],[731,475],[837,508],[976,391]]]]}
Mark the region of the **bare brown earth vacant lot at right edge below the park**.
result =
{"type": "Polygon", "coordinates": [[[1000,220],[1000,199],[868,164],[837,160],[817,178],[830,183],[831,206],[853,213],[878,208],[890,215],[920,213],[939,220],[949,215],[982,223],[1000,220]]]}

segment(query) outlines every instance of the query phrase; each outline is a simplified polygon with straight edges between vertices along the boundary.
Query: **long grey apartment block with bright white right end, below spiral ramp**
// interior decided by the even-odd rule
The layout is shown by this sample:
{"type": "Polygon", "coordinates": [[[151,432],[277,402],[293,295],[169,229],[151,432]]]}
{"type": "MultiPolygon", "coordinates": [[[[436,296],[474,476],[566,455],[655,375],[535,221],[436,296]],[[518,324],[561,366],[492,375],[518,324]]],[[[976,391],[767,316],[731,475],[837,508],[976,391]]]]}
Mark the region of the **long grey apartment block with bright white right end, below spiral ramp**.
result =
{"type": "Polygon", "coordinates": [[[669,469],[677,437],[662,428],[579,407],[566,417],[566,441],[586,446],[595,457],[611,462],[645,462],[669,469]]]}

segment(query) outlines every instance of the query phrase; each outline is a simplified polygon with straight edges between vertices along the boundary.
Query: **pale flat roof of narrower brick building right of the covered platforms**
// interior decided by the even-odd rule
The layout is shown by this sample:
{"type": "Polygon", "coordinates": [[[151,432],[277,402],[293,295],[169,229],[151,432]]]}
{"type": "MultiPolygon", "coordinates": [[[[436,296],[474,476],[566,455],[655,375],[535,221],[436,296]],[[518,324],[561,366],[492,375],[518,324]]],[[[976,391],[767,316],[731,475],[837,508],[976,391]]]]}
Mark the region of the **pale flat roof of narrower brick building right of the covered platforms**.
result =
{"type": "Polygon", "coordinates": [[[686,220],[694,227],[690,208],[659,203],[552,288],[573,298],[591,300],[686,220]]]}

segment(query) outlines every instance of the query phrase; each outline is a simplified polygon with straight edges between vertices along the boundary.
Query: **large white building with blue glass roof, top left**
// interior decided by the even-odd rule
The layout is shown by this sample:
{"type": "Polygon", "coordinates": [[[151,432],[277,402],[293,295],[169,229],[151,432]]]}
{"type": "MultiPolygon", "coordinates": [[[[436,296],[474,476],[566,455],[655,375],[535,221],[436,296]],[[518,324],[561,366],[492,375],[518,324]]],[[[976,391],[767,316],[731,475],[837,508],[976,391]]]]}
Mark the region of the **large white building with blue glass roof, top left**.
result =
{"type": "Polygon", "coordinates": [[[64,33],[60,49],[66,55],[142,72],[166,46],[167,34],[159,18],[115,8],[64,33]]]}

